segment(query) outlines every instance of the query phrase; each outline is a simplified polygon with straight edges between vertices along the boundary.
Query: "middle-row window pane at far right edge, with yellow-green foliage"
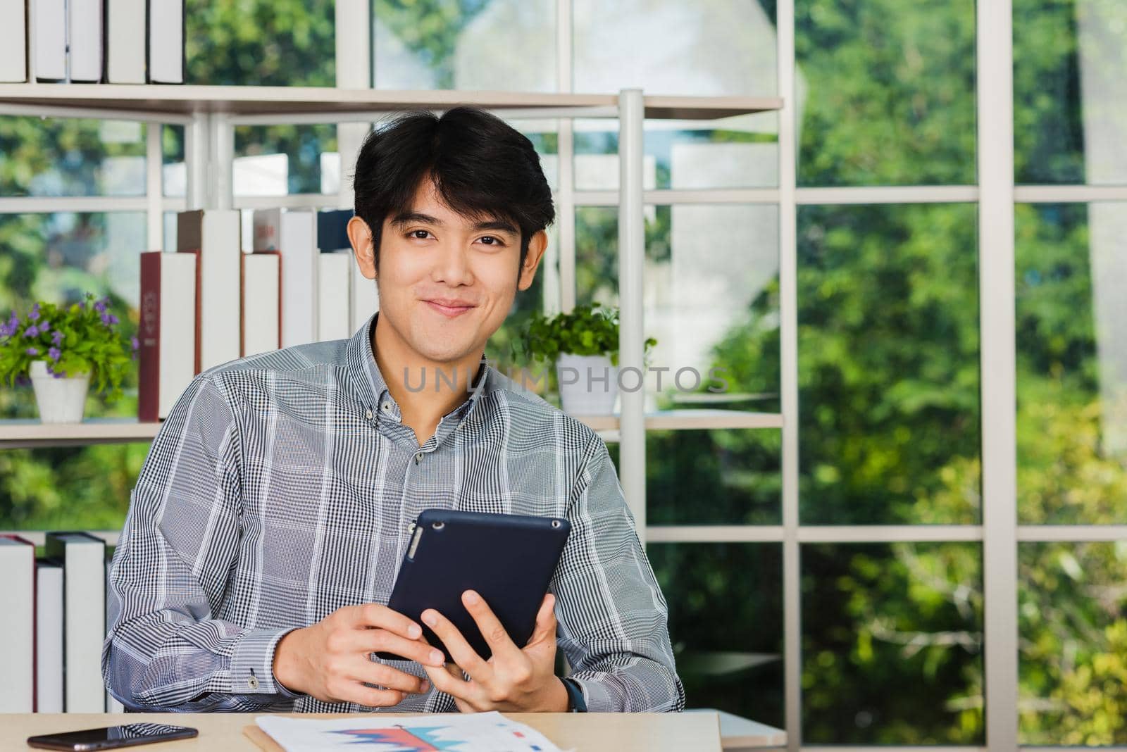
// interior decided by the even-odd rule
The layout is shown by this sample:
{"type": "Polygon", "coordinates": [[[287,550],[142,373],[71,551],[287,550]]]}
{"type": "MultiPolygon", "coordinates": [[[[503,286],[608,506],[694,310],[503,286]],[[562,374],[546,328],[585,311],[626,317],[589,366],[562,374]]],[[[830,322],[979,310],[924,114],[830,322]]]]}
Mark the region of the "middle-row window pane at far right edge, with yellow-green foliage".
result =
{"type": "Polygon", "coordinates": [[[1127,514],[1124,204],[1017,207],[1018,517],[1127,514]]]}

